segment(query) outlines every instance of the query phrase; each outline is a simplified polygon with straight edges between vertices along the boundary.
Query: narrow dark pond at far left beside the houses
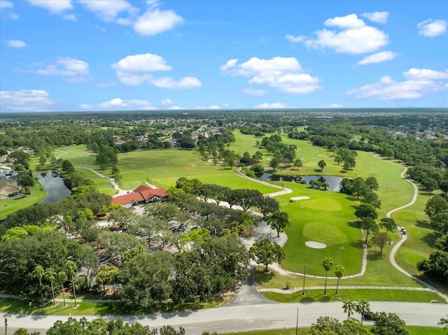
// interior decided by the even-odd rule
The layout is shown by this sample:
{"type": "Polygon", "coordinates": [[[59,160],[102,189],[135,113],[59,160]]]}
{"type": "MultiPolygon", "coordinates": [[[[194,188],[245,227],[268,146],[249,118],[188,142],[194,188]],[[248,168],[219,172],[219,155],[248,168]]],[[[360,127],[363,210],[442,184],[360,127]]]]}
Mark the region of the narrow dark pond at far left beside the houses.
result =
{"type": "Polygon", "coordinates": [[[66,186],[67,180],[57,170],[48,170],[47,173],[36,173],[36,177],[46,192],[45,198],[38,205],[52,204],[69,197],[71,190],[66,186]]]}

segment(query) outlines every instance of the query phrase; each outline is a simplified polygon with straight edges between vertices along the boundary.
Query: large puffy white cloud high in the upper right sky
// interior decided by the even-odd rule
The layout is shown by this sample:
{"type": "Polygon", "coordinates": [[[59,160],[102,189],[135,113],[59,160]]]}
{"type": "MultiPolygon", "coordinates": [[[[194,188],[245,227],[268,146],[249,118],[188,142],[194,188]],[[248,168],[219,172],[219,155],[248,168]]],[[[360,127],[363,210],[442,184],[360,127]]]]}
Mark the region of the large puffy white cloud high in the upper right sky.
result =
{"type": "Polygon", "coordinates": [[[356,14],[330,18],[325,21],[325,26],[335,29],[314,31],[316,38],[303,38],[300,41],[309,48],[330,48],[335,52],[349,54],[374,52],[389,42],[384,31],[367,26],[356,14]]]}

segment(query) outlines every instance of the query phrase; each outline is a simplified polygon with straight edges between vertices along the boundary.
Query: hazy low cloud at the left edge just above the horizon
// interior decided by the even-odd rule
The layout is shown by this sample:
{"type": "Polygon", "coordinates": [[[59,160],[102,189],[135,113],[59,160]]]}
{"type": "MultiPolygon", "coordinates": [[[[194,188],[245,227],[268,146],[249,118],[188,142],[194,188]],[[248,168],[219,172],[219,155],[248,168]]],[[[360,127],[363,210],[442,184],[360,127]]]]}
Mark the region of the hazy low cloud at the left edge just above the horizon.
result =
{"type": "Polygon", "coordinates": [[[0,111],[48,111],[56,102],[44,90],[0,91],[0,111]]]}

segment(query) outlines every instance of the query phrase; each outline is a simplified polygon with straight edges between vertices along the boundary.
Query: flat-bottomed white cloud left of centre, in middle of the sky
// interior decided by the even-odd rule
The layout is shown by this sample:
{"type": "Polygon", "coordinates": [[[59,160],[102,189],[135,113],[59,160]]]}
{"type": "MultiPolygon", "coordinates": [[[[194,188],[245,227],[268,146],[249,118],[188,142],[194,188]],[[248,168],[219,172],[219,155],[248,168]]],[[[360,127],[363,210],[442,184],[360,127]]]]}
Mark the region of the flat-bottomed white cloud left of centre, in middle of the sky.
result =
{"type": "Polygon", "coordinates": [[[150,53],[126,56],[118,63],[112,64],[112,67],[118,71],[127,72],[171,71],[172,69],[166,64],[165,59],[150,53]]]}

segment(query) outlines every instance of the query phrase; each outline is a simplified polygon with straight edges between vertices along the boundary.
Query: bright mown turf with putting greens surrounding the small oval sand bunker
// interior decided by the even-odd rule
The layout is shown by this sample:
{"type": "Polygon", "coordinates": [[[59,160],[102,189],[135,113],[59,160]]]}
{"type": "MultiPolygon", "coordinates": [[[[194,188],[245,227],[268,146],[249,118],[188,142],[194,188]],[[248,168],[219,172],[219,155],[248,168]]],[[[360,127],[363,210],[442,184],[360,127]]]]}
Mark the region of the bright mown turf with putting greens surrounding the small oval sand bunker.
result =
{"type": "MultiPolygon", "coordinates": [[[[335,265],[343,265],[346,275],[359,273],[363,257],[360,229],[349,222],[355,220],[353,201],[344,194],[314,190],[306,185],[285,183],[292,194],[277,197],[282,211],[288,213],[290,227],[286,229],[288,241],[284,246],[286,258],[283,269],[324,276],[321,262],[332,257],[335,265]],[[290,202],[290,197],[306,196],[310,199],[290,202]],[[325,243],[326,248],[315,249],[305,245],[307,241],[325,243]]],[[[330,275],[331,276],[331,275],[330,275]]]]}

